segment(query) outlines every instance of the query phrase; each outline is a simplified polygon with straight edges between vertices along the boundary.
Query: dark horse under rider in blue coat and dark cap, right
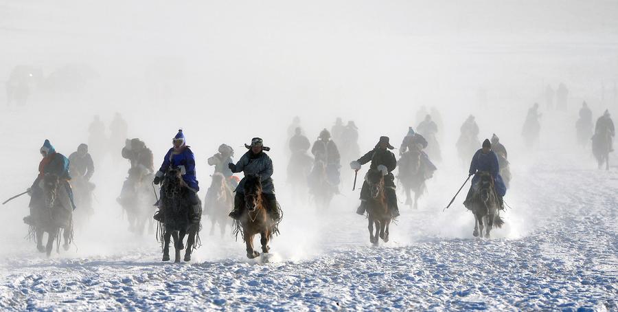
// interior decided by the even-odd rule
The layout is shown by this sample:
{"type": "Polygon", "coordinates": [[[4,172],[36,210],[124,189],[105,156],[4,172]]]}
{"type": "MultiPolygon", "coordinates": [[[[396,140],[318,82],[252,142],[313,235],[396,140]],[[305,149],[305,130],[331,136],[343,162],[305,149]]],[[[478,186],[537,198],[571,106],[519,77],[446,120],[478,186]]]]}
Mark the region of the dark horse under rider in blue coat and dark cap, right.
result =
{"type": "Polygon", "coordinates": [[[498,194],[494,188],[494,179],[489,172],[479,172],[479,181],[472,186],[473,193],[468,209],[474,214],[475,237],[483,237],[483,227],[487,227],[485,238],[490,238],[490,231],[494,227],[502,227],[504,221],[498,214],[498,194]]]}

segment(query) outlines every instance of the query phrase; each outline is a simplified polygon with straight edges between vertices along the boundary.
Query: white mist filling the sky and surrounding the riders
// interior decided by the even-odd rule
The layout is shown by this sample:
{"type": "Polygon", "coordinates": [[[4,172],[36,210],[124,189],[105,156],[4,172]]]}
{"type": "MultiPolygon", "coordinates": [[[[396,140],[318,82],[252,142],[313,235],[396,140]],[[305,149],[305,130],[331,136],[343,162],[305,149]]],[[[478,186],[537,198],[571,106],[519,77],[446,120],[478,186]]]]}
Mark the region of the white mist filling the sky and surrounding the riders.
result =
{"type": "MultiPolygon", "coordinates": [[[[284,211],[271,249],[283,263],[319,259],[369,246],[367,221],[354,214],[362,179],[353,192],[348,164],[355,159],[341,159],[341,195],[327,212],[294,202],[286,183],[293,117],[311,142],[335,118],[353,120],[364,154],[381,135],[399,147],[425,107],[443,120],[442,161],[419,210],[403,205],[398,190],[402,218],[386,247],[470,238],[465,194],[442,212],[467,177],[455,142],[468,115],[476,117],[481,141],[496,133],[509,150],[514,179],[505,200],[514,209],[494,237],[517,240],[536,229],[532,206],[552,184],[531,181],[540,166],[595,168],[590,151],[573,147],[575,120],[584,101],[595,120],[605,109],[618,113],[617,16],[615,1],[0,1],[0,82],[17,65],[56,81],[33,88],[24,106],[0,96],[1,198],[30,187],[45,139],[67,157],[88,143],[94,115],[109,135],[121,113],[128,138],[139,137],[154,153],[155,171],[183,129],[202,200],[214,170],[206,159],[217,147],[232,146],[238,161],[244,144],[262,137],[284,211]],[[78,68],[78,78],[59,74],[67,65],[78,68]],[[569,89],[567,109],[548,109],[545,88],[560,83],[569,89]],[[543,114],[540,140],[526,148],[521,131],[535,102],[543,114]]],[[[75,246],[54,251],[53,260],[159,261],[155,234],[129,233],[115,201],[130,166],[113,160],[119,153],[92,155],[95,214],[76,224],[75,246]]],[[[24,239],[27,197],[0,208],[0,257],[42,258],[24,239]]],[[[242,239],[229,229],[223,238],[209,236],[209,221],[202,224],[196,263],[249,261],[242,239]]]]}

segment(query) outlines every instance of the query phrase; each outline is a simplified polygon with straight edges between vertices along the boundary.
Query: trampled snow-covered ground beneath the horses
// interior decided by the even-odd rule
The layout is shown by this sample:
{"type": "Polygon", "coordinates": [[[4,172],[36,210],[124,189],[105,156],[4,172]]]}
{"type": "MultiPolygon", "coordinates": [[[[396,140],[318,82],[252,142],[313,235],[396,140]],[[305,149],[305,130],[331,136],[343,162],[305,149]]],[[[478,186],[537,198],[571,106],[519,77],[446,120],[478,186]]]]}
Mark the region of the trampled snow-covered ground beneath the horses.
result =
{"type": "Polygon", "coordinates": [[[24,243],[1,262],[0,309],[616,310],[618,172],[550,155],[516,172],[512,210],[491,240],[472,238],[472,215],[461,205],[442,212],[440,197],[402,208],[380,247],[354,207],[334,208],[333,221],[288,207],[269,263],[205,231],[196,261],[181,265],[159,262],[152,236],[100,238],[94,250],[78,236],[88,256],[50,260],[24,243]]]}

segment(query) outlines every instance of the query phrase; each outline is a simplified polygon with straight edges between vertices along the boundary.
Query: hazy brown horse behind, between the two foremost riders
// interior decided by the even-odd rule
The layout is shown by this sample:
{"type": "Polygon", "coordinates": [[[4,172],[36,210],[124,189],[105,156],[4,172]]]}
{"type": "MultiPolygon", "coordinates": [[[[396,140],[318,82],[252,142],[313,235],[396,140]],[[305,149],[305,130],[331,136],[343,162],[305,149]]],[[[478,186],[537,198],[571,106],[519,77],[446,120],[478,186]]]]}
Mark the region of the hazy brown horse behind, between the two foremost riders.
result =
{"type": "Polygon", "coordinates": [[[210,235],[214,235],[215,225],[218,223],[221,236],[225,235],[225,227],[229,222],[227,214],[234,207],[234,196],[225,176],[220,172],[212,175],[210,187],[206,192],[203,214],[209,216],[211,221],[210,235]]]}

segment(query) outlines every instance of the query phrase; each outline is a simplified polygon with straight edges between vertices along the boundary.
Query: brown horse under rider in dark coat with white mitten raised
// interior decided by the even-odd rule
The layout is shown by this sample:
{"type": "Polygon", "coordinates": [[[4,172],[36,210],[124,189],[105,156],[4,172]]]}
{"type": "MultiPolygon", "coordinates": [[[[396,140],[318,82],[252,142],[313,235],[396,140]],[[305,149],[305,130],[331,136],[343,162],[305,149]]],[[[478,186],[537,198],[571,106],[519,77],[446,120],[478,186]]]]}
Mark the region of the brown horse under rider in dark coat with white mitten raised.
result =
{"type": "Polygon", "coordinates": [[[369,241],[378,245],[378,236],[382,241],[389,241],[389,225],[391,224],[391,212],[385,193],[384,175],[380,170],[369,169],[365,175],[365,181],[371,191],[371,196],[367,199],[367,215],[369,220],[369,241]],[[374,234],[374,225],[376,232],[374,234]]]}

